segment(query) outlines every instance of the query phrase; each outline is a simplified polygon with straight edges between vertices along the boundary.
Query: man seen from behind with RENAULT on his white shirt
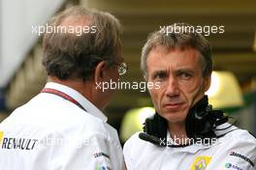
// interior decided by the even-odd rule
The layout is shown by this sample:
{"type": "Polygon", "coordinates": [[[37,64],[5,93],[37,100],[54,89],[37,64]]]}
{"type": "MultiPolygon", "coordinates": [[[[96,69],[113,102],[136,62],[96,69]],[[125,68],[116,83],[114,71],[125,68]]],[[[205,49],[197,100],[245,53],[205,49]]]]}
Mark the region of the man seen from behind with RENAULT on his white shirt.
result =
{"type": "Polygon", "coordinates": [[[48,83],[1,123],[0,169],[124,169],[117,132],[102,113],[113,91],[98,86],[127,71],[119,21],[72,7],[47,26],[48,83]]]}

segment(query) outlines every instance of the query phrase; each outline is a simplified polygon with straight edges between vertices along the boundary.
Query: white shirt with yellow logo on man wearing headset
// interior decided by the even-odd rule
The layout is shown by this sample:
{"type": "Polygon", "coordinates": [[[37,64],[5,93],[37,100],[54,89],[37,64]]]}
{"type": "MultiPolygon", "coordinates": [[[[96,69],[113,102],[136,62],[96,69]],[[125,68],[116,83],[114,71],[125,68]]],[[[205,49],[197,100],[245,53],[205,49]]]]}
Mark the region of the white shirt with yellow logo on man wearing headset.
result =
{"type": "Polygon", "coordinates": [[[256,170],[256,139],[238,128],[211,146],[171,148],[157,147],[136,133],[124,145],[124,158],[128,170],[256,170]]]}

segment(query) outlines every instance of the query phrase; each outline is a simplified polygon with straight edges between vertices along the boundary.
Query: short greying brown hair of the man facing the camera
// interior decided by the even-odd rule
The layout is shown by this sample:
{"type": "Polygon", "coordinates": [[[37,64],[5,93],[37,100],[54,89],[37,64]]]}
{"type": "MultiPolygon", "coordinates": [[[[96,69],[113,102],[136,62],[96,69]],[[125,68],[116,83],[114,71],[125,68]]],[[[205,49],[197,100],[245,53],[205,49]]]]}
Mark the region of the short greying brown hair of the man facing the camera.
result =
{"type": "Polygon", "coordinates": [[[149,52],[158,45],[162,45],[167,49],[172,48],[186,48],[192,47],[201,53],[203,63],[203,76],[209,76],[212,72],[212,59],[211,59],[211,47],[208,40],[197,32],[178,32],[174,31],[177,27],[191,25],[186,23],[175,23],[173,25],[164,27],[165,30],[158,30],[151,33],[147,41],[144,44],[141,58],[141,69],[144,74],[144,78],[147,78],[147,66],[146,59],[149,52]]]}

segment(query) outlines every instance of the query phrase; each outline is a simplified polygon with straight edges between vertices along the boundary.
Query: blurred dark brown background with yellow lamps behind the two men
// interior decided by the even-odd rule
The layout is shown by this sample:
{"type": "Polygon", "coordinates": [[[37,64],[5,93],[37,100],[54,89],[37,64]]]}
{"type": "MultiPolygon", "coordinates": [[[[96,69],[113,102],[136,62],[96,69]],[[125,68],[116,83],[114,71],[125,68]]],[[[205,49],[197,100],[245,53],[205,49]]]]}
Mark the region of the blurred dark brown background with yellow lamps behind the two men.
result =
{"type": "MultiPolygon", "coordinates": [[[[121,81],[143,81],[141,48],[148,33],[174,22],[224,26],[210,34],[214,73],[210,103],[238,119],[237,126],[256,134],[256,1],[255,0],[1,0],[0,122],[37,95],[47,75],[41,64],[42,37],[33,26],[81,5],[114,14],[123,25],[123,54],[129,71],[121,81]]],[[[106,109],[122,142],[153,114],[147,92],[119,90],[106,109]]]]}

